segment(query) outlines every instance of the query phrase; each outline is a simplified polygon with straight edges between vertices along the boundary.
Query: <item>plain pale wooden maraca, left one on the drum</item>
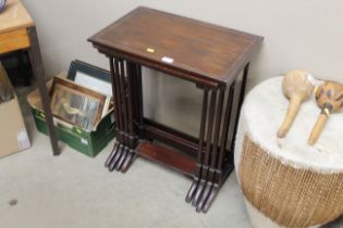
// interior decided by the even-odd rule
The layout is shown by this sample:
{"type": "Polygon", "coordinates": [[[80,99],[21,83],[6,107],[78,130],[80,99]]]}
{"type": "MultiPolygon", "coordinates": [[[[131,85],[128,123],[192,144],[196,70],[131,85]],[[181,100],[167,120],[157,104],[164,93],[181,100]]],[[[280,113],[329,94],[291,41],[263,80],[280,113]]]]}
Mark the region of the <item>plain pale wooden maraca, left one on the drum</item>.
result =
{"type": "Polygon", "coordinates": [[[282,91],[290,99],[286,116],[279,128],[278,137],[283,138],[287,134],[302,102],[306,101],[314,91],[314,85],[309,80],[306,71],[294,69],[283,76],[282,91]]]}

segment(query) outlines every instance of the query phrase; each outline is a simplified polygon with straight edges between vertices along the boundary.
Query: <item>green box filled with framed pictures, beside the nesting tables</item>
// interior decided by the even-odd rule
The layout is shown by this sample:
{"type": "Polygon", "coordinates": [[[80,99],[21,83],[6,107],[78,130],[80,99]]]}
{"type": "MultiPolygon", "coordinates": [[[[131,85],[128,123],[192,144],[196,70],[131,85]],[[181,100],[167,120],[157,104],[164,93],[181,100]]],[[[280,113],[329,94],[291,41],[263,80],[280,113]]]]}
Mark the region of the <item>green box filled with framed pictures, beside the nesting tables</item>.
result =
{"type": "MultiPolygon", "coordinates": [[[[60,140],[89,156],[97,155],[115,135],[110,73],[75,60],[69,73],[54,76],[51,84],[51,111],[60,140]]],[[[27,100],[37,129],[46,134],[37,94],[33,92],[27,100]]]]}

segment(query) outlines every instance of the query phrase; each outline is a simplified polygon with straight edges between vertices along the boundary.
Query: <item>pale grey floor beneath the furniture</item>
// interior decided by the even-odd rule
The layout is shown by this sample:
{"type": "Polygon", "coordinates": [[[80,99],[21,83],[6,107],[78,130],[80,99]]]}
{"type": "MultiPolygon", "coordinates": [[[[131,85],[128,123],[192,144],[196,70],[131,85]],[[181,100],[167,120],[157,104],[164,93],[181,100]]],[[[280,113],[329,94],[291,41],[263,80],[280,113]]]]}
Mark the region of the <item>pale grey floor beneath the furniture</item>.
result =
{"type": "Polygon", "coordinates": [[[33,147],[0,160],[0,227],[250,228],[234,174],[208,214],[198,214],[184,201],[191,179],[183,175],[143,159],[124,175],[109,173],[113,141],[95,159],[68,147],[52,156],[21,100],[33,147]]]}

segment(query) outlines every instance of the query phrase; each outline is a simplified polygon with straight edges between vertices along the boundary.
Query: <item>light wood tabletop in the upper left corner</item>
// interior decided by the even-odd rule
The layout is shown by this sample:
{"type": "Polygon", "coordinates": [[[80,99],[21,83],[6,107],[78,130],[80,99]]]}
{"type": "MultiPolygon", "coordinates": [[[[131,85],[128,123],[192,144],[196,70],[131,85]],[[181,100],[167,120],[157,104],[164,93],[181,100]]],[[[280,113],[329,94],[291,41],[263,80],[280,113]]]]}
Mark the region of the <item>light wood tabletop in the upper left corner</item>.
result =
{"type": "Polygon", "coordinates": [[[0,13],[0,34],[34,26],[35,23],[20,0],[8,0],[0,13]]]}

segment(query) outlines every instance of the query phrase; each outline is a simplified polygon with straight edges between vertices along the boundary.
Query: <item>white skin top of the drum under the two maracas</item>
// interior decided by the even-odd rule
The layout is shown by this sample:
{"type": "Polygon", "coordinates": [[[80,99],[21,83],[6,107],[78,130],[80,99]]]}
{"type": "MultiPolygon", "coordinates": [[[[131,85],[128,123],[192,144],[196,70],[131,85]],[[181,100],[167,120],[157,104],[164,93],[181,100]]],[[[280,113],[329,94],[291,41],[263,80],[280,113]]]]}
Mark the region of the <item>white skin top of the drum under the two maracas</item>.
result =
{"type": "Polygon", "coordinates": [[[274,77],[256,86],[245,98],[240,125],[244,124],[248,136],[283,163],[321,173],[343,172],[343,113],[329,117],[316,144],[307,143],[320,114],[315,96],[302,104],[286,137],[277,137],[289,107],[281,84],[282,77],[274,77]]]}

